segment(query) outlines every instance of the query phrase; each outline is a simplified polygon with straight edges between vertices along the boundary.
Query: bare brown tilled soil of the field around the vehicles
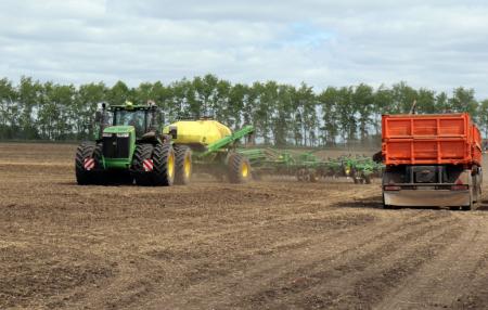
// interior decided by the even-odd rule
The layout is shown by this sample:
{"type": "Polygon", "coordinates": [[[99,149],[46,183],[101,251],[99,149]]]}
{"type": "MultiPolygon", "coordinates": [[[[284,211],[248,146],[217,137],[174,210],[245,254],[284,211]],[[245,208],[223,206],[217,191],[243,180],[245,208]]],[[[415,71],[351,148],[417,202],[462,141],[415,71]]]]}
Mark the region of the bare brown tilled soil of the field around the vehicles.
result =
{"type": "Polygon", "coordinates": [[[74,150],[0,144],[0,309],[488,305],[484,210],[384,210],[344,180],[78,186],[74,150]]]}

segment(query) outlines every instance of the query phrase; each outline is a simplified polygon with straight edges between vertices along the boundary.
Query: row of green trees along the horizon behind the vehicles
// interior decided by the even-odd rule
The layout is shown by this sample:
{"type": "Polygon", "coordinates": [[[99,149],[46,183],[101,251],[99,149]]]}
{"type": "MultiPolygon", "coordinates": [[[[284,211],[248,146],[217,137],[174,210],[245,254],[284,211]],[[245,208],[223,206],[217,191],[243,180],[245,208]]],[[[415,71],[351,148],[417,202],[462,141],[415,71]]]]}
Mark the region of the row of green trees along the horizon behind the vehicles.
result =
{"type": "Polygon", "coordinates": [[[128,87],[118,81],[80,86],[22,77],[0,79],[0,139],[73,141],[93,139],[93,116],[101,102],[155,101],[166,121],[214,117],[232,129],[251,124],[256,141],[278,146],[377,145],[381,115],[468,112],[488,135],[488,100],[473,89],[452,92],[415,89],[406,82],[373,88],[360,83],[317,92],[301,83],[231,83],[214,75],[128,87]]]}

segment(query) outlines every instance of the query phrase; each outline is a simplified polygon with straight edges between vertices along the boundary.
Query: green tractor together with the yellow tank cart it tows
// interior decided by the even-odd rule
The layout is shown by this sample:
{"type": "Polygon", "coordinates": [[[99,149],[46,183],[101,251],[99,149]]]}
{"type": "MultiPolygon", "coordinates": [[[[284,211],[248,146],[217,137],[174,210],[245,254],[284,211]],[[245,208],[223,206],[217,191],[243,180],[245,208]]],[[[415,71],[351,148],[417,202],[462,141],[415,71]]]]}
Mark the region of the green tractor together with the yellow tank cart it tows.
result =
{"type": "Polygon", "coordinates": [[[218,121],[200,119],[177,121],[163,130],[154,103],[130,102],[103,105],[95,121],[99,139],[81,143],[76,152],[78,184],[188,184],[193,164],[196,170],[227,176],[232,183],[251,179],[248,159],[235,152],[237,141],[254,131],[251,126],[232,133],[218,121]]]}

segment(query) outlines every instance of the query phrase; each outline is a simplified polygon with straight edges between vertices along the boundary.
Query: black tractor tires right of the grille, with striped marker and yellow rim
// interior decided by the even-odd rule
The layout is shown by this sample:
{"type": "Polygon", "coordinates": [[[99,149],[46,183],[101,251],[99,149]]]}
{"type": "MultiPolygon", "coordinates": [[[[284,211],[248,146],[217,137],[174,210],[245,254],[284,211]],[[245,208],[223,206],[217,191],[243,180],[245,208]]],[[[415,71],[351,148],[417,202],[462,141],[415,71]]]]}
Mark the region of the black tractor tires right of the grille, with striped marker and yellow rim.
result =
{"type": "Polygon", "coordinates": [[[175,151],[171,144],[141,143],[136,146],[132,159],[136,184],[142,186],[170,186],[175,179],[175,151]],[[143,162],[153,160],[153,169],[144,170],[143,162]]]}

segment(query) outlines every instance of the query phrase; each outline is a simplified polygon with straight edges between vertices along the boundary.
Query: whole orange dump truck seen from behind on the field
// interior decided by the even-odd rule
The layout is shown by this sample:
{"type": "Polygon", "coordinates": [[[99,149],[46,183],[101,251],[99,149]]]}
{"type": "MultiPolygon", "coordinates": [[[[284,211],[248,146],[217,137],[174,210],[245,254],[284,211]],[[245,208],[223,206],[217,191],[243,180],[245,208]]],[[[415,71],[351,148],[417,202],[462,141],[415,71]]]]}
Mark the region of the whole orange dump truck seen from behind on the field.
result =
{"type": "Polygon", "coordinates": [[[383,115],[383,204],[475,209],[481,135],[467,113],[383,115]]]}

